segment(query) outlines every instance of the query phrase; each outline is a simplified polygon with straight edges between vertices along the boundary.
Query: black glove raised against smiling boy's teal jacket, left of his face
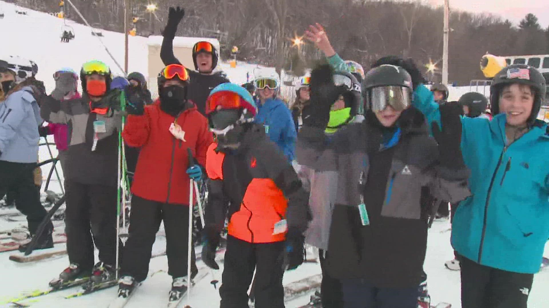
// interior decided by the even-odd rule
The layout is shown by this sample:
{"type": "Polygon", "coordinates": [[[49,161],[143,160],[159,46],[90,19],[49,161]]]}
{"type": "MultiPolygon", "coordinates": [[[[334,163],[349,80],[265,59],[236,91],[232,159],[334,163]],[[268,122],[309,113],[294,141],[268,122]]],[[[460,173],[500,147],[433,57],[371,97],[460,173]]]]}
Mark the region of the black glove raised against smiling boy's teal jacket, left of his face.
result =
{"type": "Polygon", "coordinates": [[[432,123],[433,136],[439,144],[440,163],[449,169],[457,170],[465,167],[461,154],[461,112],[457,102],[448,102],[440,107],[440,122],[432,123]]]}

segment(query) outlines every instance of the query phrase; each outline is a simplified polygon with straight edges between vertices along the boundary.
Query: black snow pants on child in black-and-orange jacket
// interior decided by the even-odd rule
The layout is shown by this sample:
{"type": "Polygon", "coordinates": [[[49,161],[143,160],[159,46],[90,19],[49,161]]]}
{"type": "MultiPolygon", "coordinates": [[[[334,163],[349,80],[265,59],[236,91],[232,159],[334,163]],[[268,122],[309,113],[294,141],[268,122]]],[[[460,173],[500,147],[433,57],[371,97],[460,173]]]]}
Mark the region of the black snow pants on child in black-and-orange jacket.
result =
{"type": "Polygon", "coordinates": [[[249,243],[227,236],[220,308],[248,307],[248,288],[255,269],[255,307],[284,308],[284,242],[249,243]]]}

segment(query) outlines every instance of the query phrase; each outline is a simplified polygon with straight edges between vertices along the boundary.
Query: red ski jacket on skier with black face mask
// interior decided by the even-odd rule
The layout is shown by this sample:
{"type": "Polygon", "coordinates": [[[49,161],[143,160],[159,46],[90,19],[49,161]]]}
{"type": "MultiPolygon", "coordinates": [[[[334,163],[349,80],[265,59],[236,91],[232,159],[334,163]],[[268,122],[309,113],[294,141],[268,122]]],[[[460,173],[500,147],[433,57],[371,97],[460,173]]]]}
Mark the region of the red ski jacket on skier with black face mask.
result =
{"type": "Polygon", "coordinates": [[[195,161],[205,166],[206,151],[213,142],[208,120],[197,107],[192,104],[176,119],[160,110],[156,101],[145,106],[142,116],[128,116],[122,136],[129,146],[141,147],[132,193],[152,201],[188,205],[187,148],[191,148],[195,161]],[[175,121],[184,132],[183,140],[170,133],[175,121]]]}

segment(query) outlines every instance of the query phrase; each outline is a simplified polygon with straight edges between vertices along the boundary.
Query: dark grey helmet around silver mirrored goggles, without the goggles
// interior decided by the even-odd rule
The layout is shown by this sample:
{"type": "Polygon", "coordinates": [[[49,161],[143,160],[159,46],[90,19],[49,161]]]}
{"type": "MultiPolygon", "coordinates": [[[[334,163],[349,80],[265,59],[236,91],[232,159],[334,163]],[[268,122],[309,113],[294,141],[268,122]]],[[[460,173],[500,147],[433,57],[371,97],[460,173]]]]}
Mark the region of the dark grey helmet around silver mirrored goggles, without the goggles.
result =
{"type": "Polygon", "coordinates": [[[369,99],[372,96],[372,89],[389,85],[408,88],[410,97],[407,100],[411,101],[413,89],[410,74],[400,66],[383,64],[369,70],[364,77],[364,81],[362,82],[362,99],[365,109],[372,109],[372,102],[369,99]]]}

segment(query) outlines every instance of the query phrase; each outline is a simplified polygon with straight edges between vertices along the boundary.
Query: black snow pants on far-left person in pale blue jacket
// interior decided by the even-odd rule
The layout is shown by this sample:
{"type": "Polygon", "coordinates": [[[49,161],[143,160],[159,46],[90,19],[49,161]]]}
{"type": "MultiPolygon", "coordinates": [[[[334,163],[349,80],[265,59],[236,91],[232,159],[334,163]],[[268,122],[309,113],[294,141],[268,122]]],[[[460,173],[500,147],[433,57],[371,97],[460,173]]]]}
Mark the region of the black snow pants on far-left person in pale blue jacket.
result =
{"type": "Polygon", "coordinates": [[[40,191],[36,189],[34,183],[32,172],[35,168],[36,163],[0,161],[0,196],[13,192],[15,207],[27,216],[31,234],[36,232],[38,225],[47,214],[40,202],[40,191]]]}

